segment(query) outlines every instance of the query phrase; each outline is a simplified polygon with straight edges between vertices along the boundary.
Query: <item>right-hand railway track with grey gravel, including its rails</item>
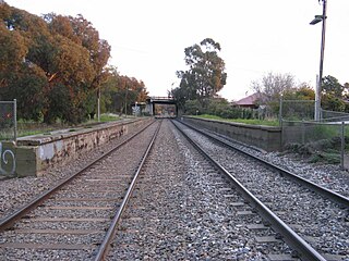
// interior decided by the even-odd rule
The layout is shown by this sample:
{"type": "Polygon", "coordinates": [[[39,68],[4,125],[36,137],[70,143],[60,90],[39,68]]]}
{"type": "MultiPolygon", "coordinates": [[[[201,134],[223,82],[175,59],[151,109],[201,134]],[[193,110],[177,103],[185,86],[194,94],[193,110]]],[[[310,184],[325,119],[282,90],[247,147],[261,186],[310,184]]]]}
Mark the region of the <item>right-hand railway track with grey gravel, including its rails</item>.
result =
{"type": "Polygon", "coordinates": [[[207,138],[203,132],[178,122],[176,125],[221,167],[302,260],[349,260],[348,198],[256,157],[251,158],[244,151],[241,156],[241,151],[236,152],[237,148],[231,151],[233,146],[227,148],[221,139],[213,142],[213,137],[207,138]]]}

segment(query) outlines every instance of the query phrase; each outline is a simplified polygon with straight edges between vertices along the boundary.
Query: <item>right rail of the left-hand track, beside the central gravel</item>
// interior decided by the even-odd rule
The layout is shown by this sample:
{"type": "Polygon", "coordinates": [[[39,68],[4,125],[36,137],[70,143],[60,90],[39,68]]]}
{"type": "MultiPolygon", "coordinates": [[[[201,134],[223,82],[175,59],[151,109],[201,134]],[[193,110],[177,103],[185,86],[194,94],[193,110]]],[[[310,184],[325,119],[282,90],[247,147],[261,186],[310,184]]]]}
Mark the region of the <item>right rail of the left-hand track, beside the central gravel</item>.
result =
{"type": "Polygon", "coordinates": [[[110,224],[110,226],[108,228],[108,232],[107,232],[107,234],[106,234],[106,236],[104,238],[104,241],[101,243],[101,245],[100,245],[100,247],[98,249],[98,252],[96,254],[95,261],[105,260],[106,254],[109,251],[110,243],[111,243],[112,238],[115,237],[115,235],[117,233],[117,227],[118,227],[118,224],[119,224],[119,222],[121,220],[121,215],[122,215],[122,213],[123,213],[123,211],[124,211],[124,209],[125,209],[125,207],[127,207],[127,204],[128,204],[128,202],[129,202],[129,200],[131,198],[132,191],[133,191],[133,189],[135,187],[135,183],[136,183],[136,181],[137,181],[137,178],[140,176],[141,170],[144,166],[145,160],[148,157],[151,149],[153,148],[153,145],[155,142],[157,134],[158,134],[158,132],[159,132],[159,129],[161,127],[161,123],[163,122],[159,123],[157,129],[155,130],[155,133],[153,135],[153,138],[152,138],[152,140],[151,140],[151,142],[149,142],[149,145],[148,145],[148,147],[147,147],[147,149],[146,149],[146,151],[145,151],[145,153],[143,156],[143,159],[142,159],[141,163],[140,163],[140,166],[136,170],[136,172],[134,174],[134,177],[133,177],[133,179],[132,179],[132,182],[130,184],[130,187],[129,187],[128,191],[125,192],[125,196],[123,197],[123,200],[122,200],[120,207],[118,208],[118,211],[117,211],[115,217],[111,221],[111,224],[110,224]]]}

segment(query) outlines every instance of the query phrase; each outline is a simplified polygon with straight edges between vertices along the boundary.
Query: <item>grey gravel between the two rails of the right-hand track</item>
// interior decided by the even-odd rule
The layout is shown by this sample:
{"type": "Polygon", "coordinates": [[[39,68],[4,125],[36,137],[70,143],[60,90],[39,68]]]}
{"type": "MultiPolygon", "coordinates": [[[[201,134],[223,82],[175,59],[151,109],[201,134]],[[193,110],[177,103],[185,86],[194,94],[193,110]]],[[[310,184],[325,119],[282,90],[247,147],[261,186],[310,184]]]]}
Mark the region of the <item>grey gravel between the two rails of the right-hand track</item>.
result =
{"type": "MultiPolygon", "coordinates": [[[[296,227],[317,251],[349,259],[348,209],[342,209],[234,150],[214,144],[186,127],[184,129],[284,222],[296,227]]],[[[284,164],[279,162],[279,165],[284,164]]],[[[334,186],[335,183],[332,184],[334,186]]]]}

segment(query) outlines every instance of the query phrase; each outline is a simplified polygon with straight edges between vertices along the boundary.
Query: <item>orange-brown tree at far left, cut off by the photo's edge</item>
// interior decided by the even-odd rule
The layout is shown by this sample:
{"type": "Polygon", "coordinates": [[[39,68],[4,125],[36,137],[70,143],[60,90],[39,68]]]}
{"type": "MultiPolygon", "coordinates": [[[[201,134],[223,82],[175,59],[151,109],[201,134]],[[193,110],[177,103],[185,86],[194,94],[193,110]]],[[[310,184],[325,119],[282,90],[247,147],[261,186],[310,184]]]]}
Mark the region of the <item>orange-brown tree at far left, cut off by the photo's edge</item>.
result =
{"type": "Polygon", "coordinates": [[[0,99],[16,98],[20,115],[38,120],[45,107],[47,76],[29,57],[49,32],[39,17],[4,2],[0,3],[0,99]]]}

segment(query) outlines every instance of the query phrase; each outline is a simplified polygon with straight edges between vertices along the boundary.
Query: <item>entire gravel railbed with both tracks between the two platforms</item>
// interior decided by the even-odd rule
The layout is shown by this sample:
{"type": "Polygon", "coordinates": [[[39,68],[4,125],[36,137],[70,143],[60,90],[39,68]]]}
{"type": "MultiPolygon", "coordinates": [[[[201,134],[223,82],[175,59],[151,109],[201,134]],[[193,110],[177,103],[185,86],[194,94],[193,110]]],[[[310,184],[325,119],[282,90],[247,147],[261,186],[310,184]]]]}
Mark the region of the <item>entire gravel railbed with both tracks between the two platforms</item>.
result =
{"type": "Polygon", "coordinates": [[[168,120],[157,121],[127,146],[84,167],[72,182],[63,181],[61,188],[47,192],[48,199],[36,200],[34,209],[13,214],[20,220],[2,220],[0,256],[4,260],[349,260],[348,229],[340,227],[348,219],[342,202],[294,185],[266,162],[255,163],[176,125],[183,133],[168,120]],[[183,135],[194,139],[198,151],[183,135]],[[282,194],[274,190],[281,187],[282,194]]]}

